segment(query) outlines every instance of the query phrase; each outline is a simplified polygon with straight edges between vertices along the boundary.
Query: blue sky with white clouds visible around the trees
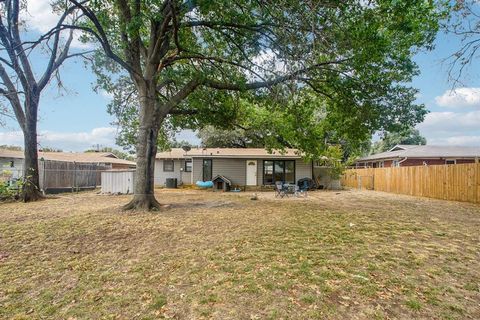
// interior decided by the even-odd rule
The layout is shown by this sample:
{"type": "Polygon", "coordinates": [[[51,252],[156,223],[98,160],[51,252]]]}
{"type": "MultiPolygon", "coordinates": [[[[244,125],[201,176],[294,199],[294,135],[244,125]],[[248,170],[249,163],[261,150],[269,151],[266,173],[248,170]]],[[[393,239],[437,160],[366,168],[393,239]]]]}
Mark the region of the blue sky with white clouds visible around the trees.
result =
{"type": "MultiPolygon", "coordinates": [[[[29,30],[45,32],[53,26],[56,17],[50,12],[50,0],[28,0],[29,30]]],[[[87,50],[84,44],[74,42],[74,50],[87,50]]],[[[412,81],[420,90],[417,102],[429,110],[423,123],[417,128],[431,145],[480,146],[480,58],[474,61],[462,75],[461,85],[452,90],[448,79],[448,63],[444,60],[456,48],[459,39],[439,33],[435,49],[415,56],[421,74],[412,81]]],[[[45,66],[45,56],[32,55],[35,71],[40,74],[45,66]]],[[[93,146],[115,145],[117,128],[113,117],[107,113],[110,96],[95,92],[95,75],[81,60],[68,60],[61,68],[65,90],[49,86],[42,94],[39,111],[40,147],[52,147],[64,151],[83,151],[93,146]]],[[[178,140],[198,144],[192,131],[182,131],[178,140]]],[[[0,127],[0,145],[23,145],[22,133],[15,121],[8,120],[0,127]]]]}

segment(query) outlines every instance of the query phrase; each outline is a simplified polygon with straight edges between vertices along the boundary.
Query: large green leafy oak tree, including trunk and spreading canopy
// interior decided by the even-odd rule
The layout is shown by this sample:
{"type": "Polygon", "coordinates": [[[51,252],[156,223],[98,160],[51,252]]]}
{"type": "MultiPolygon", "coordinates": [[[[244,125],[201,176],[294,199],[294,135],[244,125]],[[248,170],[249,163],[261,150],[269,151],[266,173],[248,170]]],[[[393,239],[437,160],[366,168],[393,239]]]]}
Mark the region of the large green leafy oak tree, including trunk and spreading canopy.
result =
{"type": "MultiPolygon", "coordinates": [[[[437,31],[432,1],[70,0],[98,41],[99,84],[138,103],[135,195],[152,209],[159,132],[219,124],[246,105],[252,123],[307,153],[318,136],[365,138],[422,120],[405,85],[437,31]],[[319,125],[320,123],[320,125],[319,125]],[[292,131],[293,130],[293,131],[292,131]]],[[[273,141],[273,140],[272,140],[273,141]]]]}

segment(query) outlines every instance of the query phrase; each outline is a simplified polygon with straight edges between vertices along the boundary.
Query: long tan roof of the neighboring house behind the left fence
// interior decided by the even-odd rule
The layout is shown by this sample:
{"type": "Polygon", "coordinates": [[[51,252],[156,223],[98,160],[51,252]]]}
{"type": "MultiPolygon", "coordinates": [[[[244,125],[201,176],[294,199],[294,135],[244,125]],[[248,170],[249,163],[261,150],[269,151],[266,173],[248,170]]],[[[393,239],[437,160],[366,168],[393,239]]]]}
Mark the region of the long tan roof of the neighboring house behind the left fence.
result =
{"type": "MultiPolygon", "coordinates": [[[[0,149],[0,158],[23,159],[23,151],[0,149]]],[[[136,163],[117,158],[110,152],[38,152],[38,158],[52,161],[68,161],[78,163],[113,163],[135,166],[136,163]]]]}

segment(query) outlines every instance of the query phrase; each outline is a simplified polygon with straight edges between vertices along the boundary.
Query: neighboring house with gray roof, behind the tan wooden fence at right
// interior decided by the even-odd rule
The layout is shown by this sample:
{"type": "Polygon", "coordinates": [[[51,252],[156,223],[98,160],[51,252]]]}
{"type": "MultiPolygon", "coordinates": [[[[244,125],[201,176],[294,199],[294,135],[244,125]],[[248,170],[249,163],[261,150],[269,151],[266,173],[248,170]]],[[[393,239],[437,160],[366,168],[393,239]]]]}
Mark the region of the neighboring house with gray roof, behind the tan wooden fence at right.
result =
{"type": "Polygon", "coordinates": [[[474,163],[478,158],[480,158],[480,147],[396,145],[386,152],[357,159],[355,166],[383,168],[474,163]]]}

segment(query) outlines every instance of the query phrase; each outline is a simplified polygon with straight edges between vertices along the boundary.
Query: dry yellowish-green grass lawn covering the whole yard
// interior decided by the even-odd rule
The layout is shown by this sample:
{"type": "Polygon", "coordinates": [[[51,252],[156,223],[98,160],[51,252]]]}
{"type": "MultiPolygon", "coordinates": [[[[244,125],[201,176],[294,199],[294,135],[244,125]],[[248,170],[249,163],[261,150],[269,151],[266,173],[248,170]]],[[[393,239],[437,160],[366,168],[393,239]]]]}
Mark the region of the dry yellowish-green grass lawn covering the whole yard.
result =
{"type": "Polygon", "coordinates": [[[0,318],[479,319],[480,206],[373,191],[0,205],[0,318]]]}

